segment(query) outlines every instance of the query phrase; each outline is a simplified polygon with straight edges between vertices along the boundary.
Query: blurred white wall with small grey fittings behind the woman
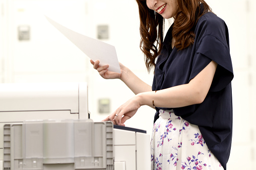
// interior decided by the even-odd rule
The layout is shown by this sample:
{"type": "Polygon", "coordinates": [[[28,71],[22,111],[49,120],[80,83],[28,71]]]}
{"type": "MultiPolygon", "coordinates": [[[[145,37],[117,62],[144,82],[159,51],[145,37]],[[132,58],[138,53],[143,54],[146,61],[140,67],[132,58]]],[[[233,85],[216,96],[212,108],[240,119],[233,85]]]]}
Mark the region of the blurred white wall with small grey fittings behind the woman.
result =
{"type": "MultiPolygon", "coordinates": [[[[233,62],[233,142],[228,169],[255,169],[255,0],[207,0],[229,28],[233,62]]],[[[83,35],[115,46],[118,60],[152,84],[139,48],[135,0],[0,0],[0,83],[88,82],[89,110],[101,121],[134,96],[120,80],[104,80],[89,58],[44,15],[83,35]]],[[[166,29],[172,20],[166,21],[166,29]]],[[[126,126],[151,133],[155,110],[143,106],[126,126]]]]}

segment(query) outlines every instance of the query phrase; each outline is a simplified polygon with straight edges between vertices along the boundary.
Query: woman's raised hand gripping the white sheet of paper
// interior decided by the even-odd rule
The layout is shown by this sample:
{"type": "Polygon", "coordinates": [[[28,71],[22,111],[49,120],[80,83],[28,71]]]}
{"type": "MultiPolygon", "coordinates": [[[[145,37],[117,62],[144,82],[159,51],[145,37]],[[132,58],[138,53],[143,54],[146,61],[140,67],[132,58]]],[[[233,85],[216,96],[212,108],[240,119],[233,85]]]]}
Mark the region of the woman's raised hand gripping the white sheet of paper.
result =
{"type": "Polygon", "coordinates": [[[93,65],[93,68],[97,70],[100,76],[103,77],[104,79],[121,79],[122,70],[124,68],[124,66],[121,63],[119,63],[121,73],[115,73],[115,72],[108,71],[109,65],[99,66],[99,63],[100,63],[99,60],[95,62],[90,60],[90,62],[93,65]]]}

